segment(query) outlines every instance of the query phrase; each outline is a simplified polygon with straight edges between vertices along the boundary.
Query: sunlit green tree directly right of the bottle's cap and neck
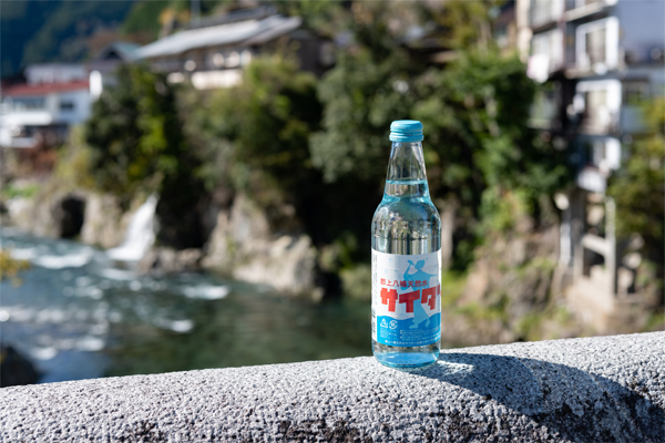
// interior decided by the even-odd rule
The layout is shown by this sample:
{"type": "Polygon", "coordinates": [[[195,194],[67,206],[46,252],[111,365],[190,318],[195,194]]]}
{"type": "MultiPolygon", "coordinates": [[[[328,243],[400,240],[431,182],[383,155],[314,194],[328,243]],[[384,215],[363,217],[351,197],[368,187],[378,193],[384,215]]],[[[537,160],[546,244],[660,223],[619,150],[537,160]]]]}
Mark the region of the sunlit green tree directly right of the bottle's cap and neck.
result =
{"type": "Polygon", "coordinates": [[[525,125],[535,85],[516,56],[462,53],[446,70],[426,72],[419,89],[423,100],[413,115],[427,127],[434,194],[454,194],[468,207],[489,204],[489,216],[492,200],[509,190],[519,189],[533,209],[540,195],[552,195],[570,178],[563,155],[525,125]]]}

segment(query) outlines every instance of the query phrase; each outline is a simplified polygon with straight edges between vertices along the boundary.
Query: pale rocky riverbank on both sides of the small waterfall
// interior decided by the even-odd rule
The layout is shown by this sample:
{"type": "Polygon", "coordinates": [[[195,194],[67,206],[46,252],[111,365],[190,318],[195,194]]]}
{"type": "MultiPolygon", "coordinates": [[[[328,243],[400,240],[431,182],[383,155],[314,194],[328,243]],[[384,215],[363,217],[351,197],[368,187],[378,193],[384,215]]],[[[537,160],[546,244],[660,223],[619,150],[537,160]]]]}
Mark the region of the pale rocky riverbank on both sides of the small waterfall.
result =
{"type": "MultiPolygon", "coordinates": [[[[37,236],[69,237],[104,249],[122,244],[127,226],[144,198],[135,198],[123,210],[113,195],[88,190],[42,192],[34,198],[7,203],[11,225],[37,236]],[[81,202],[78,228],[68,223],[72,200],[81,202]]],[[[244,195],[217,213],[204,250],[155,247],[139,265],[145,272],[194,271],[200,267],[237,280],[264,284],[291,295],[320,300],[315,285],[316,248],[301,229],[274,229],[265,209],[244,195]]]]}

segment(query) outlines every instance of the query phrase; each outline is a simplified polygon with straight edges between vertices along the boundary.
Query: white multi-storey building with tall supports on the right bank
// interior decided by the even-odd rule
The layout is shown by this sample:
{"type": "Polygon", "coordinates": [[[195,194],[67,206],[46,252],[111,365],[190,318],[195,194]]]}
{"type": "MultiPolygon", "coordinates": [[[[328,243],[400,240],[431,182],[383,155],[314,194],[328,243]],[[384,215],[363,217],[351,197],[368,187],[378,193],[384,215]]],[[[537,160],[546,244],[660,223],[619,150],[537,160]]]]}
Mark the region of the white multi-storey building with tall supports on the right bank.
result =
{"type": "Polygon", "coordinates": [[[635,104],[665,91],[664,18],[662,0],[518,1],[528,73],[544,83],[531,125],[567,148],[576,171],[576,188],[556,198],[562,287],[595,319],[616,316],[634,292],[640,260],[614,235],[605,188],[643,131],[635,104]]]}

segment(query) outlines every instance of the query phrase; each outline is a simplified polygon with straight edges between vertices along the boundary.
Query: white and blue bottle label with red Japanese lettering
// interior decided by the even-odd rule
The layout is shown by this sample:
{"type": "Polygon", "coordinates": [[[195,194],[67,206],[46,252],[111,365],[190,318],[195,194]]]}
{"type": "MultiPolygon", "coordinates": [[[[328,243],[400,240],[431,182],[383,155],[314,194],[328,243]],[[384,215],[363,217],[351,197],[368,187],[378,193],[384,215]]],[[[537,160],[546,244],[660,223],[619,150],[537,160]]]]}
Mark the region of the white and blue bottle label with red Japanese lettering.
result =
{"type": "Polygon", "coordinates": [[[371,250],[371,334],[396,347],[441,340],[441,249],[419,255],[371,250]]]}

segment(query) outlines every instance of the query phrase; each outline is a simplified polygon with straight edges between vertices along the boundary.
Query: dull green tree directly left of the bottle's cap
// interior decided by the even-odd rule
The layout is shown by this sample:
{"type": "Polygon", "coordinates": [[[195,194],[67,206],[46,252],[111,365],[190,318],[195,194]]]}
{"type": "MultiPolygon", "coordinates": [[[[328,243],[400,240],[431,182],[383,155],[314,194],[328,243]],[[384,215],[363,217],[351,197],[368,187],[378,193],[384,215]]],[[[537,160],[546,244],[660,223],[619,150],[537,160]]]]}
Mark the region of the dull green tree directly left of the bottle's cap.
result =
{"type": "Polygon", "coordinates": [[[366,49],[342,53],[319,85],[325,131],[311,136],[310,150],[327,182],[351,176],[380,181],[388,165],[390,122],[408,115],[411,97],[393,87],[406,83],[402,78],[408,75],[400,75],[400,68],[408,66],[408,59],[400,53],[372,59],[366,49]]]}

